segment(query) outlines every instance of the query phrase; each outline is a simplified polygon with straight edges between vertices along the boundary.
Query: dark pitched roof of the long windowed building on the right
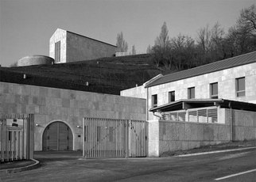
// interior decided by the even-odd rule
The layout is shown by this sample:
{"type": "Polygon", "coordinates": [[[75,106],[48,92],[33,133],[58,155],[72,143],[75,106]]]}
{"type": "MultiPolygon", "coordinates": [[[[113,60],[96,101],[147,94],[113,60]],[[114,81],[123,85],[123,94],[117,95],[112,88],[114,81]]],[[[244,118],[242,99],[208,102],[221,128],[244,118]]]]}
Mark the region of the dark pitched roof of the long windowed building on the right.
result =
{"type": "Polygon", "coordinates": [[[158,78],[154,82],[149,82],[145,87],[151,87],[155,85],[161,85],[168,82],[174,82],[184,78],[192,78],[201,74],[208,74],[218,70],[225,70],[235,66],[242,66],[249,63],[256,63],[256,51],[247,53],[245,55],[239,55],[229,59],[223,59],[221,61],[206,64],[203,66],[197,66],[192,69],[182,70],[173,74],[167,74],[158,78]]]}

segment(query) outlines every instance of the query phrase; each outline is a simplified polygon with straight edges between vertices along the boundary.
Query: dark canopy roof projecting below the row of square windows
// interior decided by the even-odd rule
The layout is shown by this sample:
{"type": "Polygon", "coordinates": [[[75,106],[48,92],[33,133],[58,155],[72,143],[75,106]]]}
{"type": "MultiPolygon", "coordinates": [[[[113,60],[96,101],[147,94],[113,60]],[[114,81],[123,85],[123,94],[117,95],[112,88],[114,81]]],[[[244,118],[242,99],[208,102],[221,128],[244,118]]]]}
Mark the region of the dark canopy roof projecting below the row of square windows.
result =
{"type": "Polygon", "coordinates": [[[172,112],[188,108],[205,108],[220,106],[221,108],[233,108],[256,112],[256,104],[226,99],[184,99],[176,100],[169,104],[163,104],[156,108],[149,109],[149,112],[172,112]]]}

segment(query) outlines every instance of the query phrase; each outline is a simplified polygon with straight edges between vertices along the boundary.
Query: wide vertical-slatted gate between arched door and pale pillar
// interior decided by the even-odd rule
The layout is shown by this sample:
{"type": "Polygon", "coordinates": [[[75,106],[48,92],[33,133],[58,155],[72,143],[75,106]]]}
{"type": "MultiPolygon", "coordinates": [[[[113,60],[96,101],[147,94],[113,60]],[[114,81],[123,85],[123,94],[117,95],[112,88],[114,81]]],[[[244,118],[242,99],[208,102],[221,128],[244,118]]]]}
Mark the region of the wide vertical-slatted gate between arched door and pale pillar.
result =
{"type": "Polygon", "coordinates": [[[83,157],[145,157],[145,121],[84,118],[83,157]]]}

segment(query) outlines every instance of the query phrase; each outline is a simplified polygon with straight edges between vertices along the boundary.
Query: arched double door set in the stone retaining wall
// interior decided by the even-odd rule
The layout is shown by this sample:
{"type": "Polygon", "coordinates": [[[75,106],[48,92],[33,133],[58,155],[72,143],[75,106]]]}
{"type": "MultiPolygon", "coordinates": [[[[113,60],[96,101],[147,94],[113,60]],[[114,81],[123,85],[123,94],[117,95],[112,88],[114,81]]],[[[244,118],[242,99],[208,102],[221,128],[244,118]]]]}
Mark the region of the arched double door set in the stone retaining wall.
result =
{"type": "Polygon", "coordinates": [[[56,121],[50,123],[43,134],[43,150],[72,150],[73,135],[67,124],[56,121]]]}

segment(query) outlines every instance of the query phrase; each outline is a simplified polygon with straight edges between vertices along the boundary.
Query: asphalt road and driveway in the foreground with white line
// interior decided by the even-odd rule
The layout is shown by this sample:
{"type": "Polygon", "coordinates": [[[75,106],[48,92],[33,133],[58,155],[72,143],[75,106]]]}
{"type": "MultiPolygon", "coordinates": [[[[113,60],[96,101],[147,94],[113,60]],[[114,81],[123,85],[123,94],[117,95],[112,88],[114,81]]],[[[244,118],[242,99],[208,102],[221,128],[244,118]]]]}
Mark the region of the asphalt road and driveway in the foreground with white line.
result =
{"type": "Polygon", "coordinates": [[[83,159],[38,153],[41,167],[0,181],[256,181],[256,150],[191,157],[83,159]]]}

